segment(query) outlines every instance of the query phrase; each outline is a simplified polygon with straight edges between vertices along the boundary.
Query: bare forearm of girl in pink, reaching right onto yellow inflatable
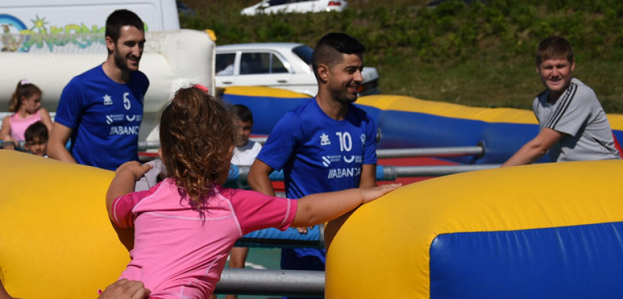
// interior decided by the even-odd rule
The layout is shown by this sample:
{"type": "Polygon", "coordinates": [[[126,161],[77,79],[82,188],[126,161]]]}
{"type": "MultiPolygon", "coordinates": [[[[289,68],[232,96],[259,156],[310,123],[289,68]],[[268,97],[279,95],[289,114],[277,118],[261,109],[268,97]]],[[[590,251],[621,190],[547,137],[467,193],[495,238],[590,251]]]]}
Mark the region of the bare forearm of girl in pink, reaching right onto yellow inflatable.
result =
{"type": "Polygon", "coordinates": [[[298,199],[298,208],[291,226],[312,226],[335,219],[362,203],[368,203],[402,184],[392,183],[371,188],[356,188],[337,192],[316,193],[298,199]]]}

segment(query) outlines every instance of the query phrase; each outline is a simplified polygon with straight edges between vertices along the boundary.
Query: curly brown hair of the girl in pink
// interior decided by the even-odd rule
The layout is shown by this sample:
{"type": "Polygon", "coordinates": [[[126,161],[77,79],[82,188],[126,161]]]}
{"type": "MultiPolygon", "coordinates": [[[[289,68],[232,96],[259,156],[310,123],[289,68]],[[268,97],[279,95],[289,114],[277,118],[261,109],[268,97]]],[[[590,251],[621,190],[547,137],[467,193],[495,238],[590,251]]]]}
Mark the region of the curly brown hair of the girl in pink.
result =
{"type": "Polygon", "coordinates": [[[229,170],[235,129],[230,111],[197,87],[181,88],[162,111],[160,143],[168,177],[200,210],[229,170]]]}

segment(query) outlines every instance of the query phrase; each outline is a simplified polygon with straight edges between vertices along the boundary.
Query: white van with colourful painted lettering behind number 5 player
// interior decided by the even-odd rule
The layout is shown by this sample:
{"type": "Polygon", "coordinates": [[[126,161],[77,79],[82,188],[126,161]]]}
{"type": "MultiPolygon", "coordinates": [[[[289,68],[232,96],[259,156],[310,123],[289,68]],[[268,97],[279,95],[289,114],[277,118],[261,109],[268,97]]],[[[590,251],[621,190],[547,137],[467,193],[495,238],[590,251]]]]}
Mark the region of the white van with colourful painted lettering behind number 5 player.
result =
{"type": "Polygon", "coordinates": [[[93,43],[103,46],[101,36],[105,31],[106,18],[114,10],[122,8],[136,12],[145,23],[147,32],[179,30],[177,5],[174,0],[2,1],[1,51],[71,53],[76,51],[75,46],[84,48],[92,46],[93,43]],[[65,35],[74,37],[67,38],[65,35]],[[70,47],[60,49],[59,46],[70,47]]]}

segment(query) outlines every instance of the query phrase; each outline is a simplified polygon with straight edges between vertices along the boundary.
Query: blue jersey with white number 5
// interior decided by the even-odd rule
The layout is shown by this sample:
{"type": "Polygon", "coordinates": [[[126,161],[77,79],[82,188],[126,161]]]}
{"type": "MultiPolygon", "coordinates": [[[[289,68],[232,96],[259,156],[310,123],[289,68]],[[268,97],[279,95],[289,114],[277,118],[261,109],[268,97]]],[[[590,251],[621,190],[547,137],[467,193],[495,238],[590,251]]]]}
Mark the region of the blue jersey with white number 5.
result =
{"type": "Polygon", "coordinates": [[[115,170],[138,160],[138,129],[149,80],[132,72],[127,84],[114,82],[102,65],[74,77],[63,89],[55,122],[71,132],[76,162],[115,170]]]}

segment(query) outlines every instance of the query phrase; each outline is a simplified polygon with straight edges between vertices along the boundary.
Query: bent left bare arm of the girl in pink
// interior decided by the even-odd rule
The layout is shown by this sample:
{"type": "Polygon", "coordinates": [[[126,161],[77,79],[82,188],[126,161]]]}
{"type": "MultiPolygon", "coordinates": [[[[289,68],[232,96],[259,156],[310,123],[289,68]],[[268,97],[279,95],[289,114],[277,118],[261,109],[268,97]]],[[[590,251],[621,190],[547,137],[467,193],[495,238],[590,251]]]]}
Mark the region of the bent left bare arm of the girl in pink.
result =
{"type": "Polygon", "coordinates": [[[136,161],[126,162],[119,166],[115,172],[114,179],[110,182],[106,193],[106,207],[108,215],[112,217],[112,204],[117,197],[134,192],[136,180],[141,179],[145,172],[152,169],[152,165],[141,165],[136,161]]]}

